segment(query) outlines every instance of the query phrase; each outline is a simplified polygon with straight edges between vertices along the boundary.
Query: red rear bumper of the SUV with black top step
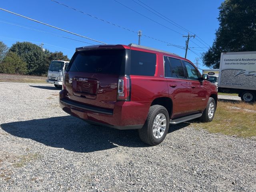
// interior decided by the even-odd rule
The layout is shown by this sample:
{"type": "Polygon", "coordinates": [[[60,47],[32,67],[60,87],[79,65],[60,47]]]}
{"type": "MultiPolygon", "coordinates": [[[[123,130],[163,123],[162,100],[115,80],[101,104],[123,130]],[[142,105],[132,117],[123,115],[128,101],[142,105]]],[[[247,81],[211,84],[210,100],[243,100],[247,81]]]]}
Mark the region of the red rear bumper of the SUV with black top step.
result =
{"type": "Polygon", "coordinates": [[[116,128],[140,129],[144,125],[149,102],[116,102],[114,109],[104,109],[94,106],[80,104],[63,97],[60,91],[60,107],[66,113],[76,116],[86,122],[116,128]]]}

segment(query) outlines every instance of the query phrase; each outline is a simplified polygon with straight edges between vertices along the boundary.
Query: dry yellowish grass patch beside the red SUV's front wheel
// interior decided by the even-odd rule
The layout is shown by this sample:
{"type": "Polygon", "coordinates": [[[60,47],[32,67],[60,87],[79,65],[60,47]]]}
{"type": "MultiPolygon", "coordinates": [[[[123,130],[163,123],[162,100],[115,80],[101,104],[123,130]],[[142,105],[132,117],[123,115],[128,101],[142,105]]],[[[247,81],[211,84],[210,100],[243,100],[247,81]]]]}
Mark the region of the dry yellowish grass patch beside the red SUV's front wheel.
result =
{"type": "Polygon", "coordinates": [[[197,128],[207,129],[213,133],[236,135],[240,137],[256,136],[256,103],[218,102],[212,122],[195,122],[193,125],[197,128]]]}

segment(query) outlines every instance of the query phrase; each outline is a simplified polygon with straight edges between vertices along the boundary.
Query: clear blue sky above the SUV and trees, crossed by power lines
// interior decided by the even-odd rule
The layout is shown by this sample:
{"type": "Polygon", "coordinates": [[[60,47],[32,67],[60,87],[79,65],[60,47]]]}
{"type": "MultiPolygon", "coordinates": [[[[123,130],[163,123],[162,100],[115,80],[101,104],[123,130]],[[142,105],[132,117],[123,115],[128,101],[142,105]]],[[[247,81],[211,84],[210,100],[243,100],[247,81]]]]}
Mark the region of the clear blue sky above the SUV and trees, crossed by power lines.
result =
{"type": "MultiPolygon", "coordinates": [[[[187,58],[193,63],[195,63],[196,58],[200,58],[198,55],[207,50],[206,47],[212,45],[215,38],[215,31],[219,26],[217,20],[219,13],[218,7],[223,2],[223,0],[56,1],[134,32],[142,30],[141,45],[174,52],[182,57],[185,56],[185,50],[175,46],[168,46],[168,43],[185,47],[186,39],[182,37],[182,35],[187,35],[188,32],[186,30],[189,30],[199,37],[191,38],[190,40],[192,41],[189,43],[189,47],[192,47],[191,50],[196,53],[188,50],[187,58]],[[147,5],[153,8],[166,18],[178,24],[180,28],[171,24],[172,22],[170,20],[167,22],[167,19],[164,20],[156,16],[139,4],[142,4],[144,7],[147,5]],[[153,40],[146,36],[164,42],[153,40]]],[[[81,14],[80,12],[57,4],[51,0],[2,1],[0,7],[101,42],[106,42],[107,44],[138,44],[138,35],[136,33],[81,14]]],[[[150,9],[149,7],[146,8],[150,9]]],[[[99,44],[2,10],[0,10],[0,29],[0,40],[9,47],[16,41],[28,41],[38,45],[43,43],[44,48],[53,52],[62,51],[64,54],[68,55],[69,58],[74,54],[76,47],[99,44]],[[66,38],[62,38],[61,36],[66,38]],[[78,41],[68,38],[73,38],[78,41]],[[86,44],[85,42],[90,44],[86,44]]],[[[199,63],[202,63],[202,61],[199,60],[199,63]]],[[[199,67],[206,68],[202,65],[199,67]]]]}

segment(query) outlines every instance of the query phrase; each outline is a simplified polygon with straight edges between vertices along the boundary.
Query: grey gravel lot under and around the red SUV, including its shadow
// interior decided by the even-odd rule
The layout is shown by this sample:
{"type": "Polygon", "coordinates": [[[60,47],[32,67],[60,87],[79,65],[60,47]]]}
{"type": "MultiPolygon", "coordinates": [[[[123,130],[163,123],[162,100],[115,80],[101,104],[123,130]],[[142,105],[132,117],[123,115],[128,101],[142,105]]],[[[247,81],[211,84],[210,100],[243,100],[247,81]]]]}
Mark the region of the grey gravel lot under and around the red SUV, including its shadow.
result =
{"type": "Polygon", "coordinates": [[[256,140],[182,123],[146,146],[62,112],[58,92],[0,83],[0,191],[256,191],[256,140]]]}

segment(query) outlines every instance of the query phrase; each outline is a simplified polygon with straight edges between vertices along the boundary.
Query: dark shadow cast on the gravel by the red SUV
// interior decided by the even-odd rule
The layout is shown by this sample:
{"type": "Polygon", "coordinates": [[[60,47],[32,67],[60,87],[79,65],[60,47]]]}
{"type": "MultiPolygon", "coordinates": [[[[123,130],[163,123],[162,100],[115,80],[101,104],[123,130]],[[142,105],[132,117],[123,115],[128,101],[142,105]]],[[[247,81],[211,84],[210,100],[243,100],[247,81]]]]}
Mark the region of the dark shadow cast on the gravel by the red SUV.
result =
{"type": "MultiPolygon", "coordinates": [[[[170,126],[169,133],[188,126],[182,123],[170,126]]],[[[47,146],[75,152],[94,152],[117,146],[149,147],[138,135],[138,130],[117,130],[87,124],[73,116],[52,117],[0,125],[6,132],[21,138],[30,138],[47,146]]]]}

